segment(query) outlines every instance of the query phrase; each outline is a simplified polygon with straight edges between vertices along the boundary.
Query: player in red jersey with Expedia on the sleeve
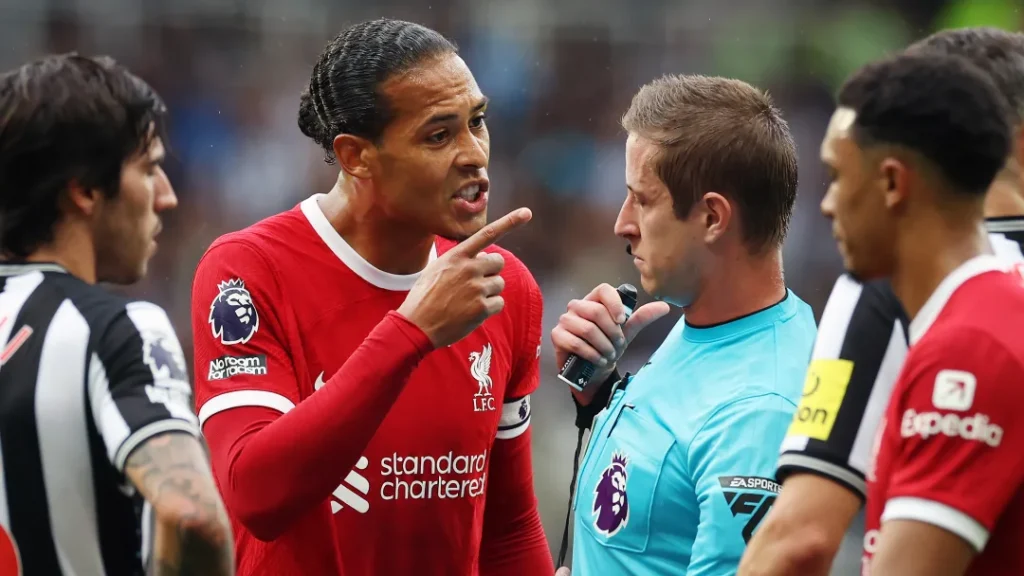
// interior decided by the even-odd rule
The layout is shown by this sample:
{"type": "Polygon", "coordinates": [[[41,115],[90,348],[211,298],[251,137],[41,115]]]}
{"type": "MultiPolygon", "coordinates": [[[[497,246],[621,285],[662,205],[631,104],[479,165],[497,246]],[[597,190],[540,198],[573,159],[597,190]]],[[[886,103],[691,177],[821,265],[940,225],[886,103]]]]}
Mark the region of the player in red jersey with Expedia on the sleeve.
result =
{"type": "Polygon", "coordinates": [[[840,90],[821,209],[847,269],[891,277],[910,318],[865,475],[864,574],[1024,573],[1024,282],[982,225],[1011,147],[966,59],[903,54],[840,90]]]}

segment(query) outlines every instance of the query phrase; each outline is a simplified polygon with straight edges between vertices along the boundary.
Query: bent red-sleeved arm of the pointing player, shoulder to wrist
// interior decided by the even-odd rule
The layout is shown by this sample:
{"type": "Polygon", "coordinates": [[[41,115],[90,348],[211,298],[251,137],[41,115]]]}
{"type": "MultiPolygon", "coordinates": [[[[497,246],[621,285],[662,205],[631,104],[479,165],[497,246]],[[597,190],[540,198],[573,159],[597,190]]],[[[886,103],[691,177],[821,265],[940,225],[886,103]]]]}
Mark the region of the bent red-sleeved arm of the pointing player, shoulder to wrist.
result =
{"type": "Polygon", "coordinates": [[[433,349],[390,312],[299,402],[276,280],[260,253],[231,242],[206,254],[193,290],[197,398],[213,470],[228,510],[265,541],[326,502],[433,349]]]}

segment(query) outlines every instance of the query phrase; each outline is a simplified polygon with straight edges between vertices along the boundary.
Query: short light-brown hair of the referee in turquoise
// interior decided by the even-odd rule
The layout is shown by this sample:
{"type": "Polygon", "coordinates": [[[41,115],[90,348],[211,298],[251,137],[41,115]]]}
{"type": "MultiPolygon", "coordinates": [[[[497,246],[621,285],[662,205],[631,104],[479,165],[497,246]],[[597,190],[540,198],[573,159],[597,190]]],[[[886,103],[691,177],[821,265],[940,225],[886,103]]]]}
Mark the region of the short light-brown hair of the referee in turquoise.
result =
{"type": "Polygon", "coordinates": [[[797,198],[797,148],[771,97],[730,78],[670,75],[644,85],[623,116],[658,145],[655,172],[680,218],[706,193],[739,208],[752,250],[785,240],[797,198]]]}

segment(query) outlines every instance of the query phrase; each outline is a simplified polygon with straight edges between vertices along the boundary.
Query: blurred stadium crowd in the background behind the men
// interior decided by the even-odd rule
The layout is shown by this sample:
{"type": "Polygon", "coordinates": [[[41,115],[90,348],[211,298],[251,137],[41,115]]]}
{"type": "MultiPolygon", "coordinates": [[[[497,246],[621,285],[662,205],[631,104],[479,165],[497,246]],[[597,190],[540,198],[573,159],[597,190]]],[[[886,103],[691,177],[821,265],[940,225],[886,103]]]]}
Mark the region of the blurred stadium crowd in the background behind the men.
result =
{"type": "MultiPolygon", "coordinates": [[[[550,329],[591,287],[634,282],[611,224],[624,198],[618,119],[663,73],[732,76],[769,90],[800,153],[785,246],[788,285],[820,314],[840,271],[817,203],[817,147],[837,84],[855,67],[934,30],[1020,30],[1015,0],[0,0],[4,69],[45,52],[105,53],[146,79],[171,110],[168,172],[180,207],[150,276],[131,292],[163,305],[190,351],[196,263],[217,236],[326,192],[337,174],[296,127],[298,95],[324,43],[387,15],[453,38],[492,99],[492,213],[535,219],[503,244],[544,291],[550,329]]],[[[313,273],[314,274],[314,273],[313,273]]],[[[635,368],[673,320],[645,331],[635,368]]],[[[189,359],[190,362],[190,359],[189,359]]],[[[572,409],[551,351],[535,396],[538,495],[557,546],[574,444],[572,409]]],[[[840,559],[849,570],[856,559],[840,559]]]]}

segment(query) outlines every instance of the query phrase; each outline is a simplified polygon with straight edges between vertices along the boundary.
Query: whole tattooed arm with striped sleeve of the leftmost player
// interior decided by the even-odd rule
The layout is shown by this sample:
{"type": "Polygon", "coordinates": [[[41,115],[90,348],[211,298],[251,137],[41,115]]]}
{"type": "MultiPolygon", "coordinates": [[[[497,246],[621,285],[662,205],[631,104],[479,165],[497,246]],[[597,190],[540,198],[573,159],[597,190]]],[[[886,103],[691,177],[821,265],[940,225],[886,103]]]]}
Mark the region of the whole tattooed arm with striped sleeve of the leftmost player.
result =
{"type": "Polygon", "coordinates": [[[233,575],[233,538],[214,484],[184,351],[167,313],[115,300],[93,346],[92,421],[114,469],[150,504],[152,574],[233,575]]]}

